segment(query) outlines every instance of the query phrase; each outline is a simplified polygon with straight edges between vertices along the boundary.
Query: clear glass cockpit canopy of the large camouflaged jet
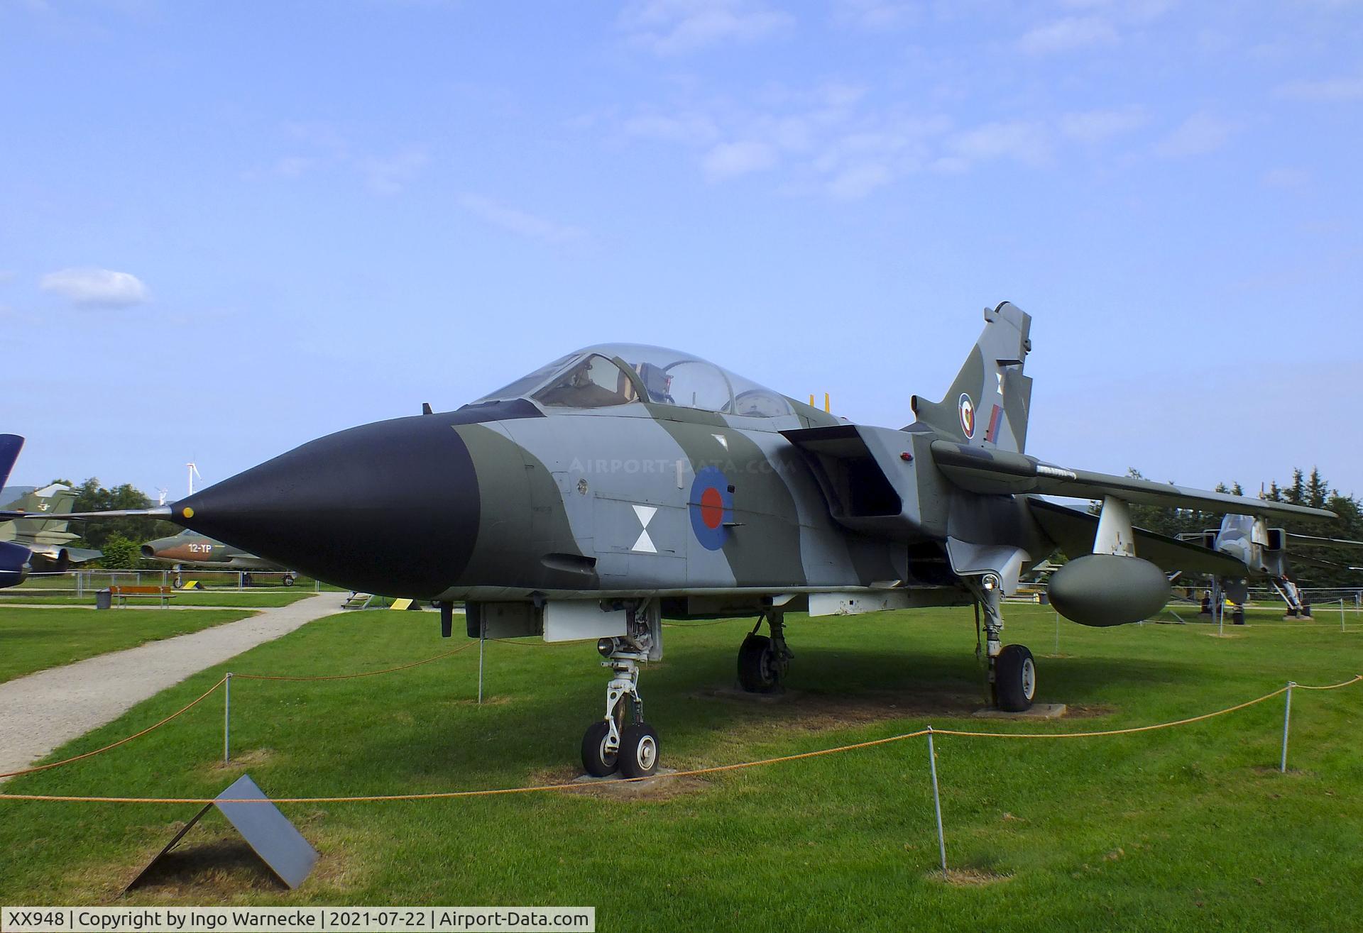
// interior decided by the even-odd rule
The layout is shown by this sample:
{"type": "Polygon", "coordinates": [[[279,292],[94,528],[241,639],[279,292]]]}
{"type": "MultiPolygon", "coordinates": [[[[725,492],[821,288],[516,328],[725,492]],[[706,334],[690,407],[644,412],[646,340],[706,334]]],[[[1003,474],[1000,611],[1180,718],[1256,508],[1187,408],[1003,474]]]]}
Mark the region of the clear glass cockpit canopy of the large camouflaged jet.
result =
{"type": "Polygon", "coordinates": [[[563,409],[652,402],[748,418],[792,414],[780,392],[688,353],[638,343],[601,343],[570,353],[478,402],[518,398],[563,409]]]}

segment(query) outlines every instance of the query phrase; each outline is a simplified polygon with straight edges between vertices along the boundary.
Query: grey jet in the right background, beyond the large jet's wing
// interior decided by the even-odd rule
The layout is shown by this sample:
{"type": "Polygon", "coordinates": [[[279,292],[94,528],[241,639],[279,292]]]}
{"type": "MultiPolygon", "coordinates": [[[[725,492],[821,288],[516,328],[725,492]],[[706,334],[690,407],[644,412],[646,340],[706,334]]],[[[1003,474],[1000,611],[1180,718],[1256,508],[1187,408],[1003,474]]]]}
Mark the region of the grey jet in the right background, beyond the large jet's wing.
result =
{"type": "MultiPolygon", "coordinates": [[[[1212,594],[1206,601],[1209,607],[1221,612],[1228,601],[1232,605],[1231,620],[1244,624],[1244,603],[1249,599],[1250,579],[1268,579],[1269,586],[1287,603],[1288,617],[1310,616],[1311,610],[1302,601],[1296,583],[1289,576],[1288,545],[1298,548],[1338,548],[1363,549],[1363,541],[1343,538],[1319,538],[1307,534],[1293,534],[1287,528],[1270,528],[1261,515],[1227,515],[1220,528],[1208,528],[1201,534],[1180,534],[1184,541],[1199,541],[1202,546],[1228,554],[1240,561],[1239,573],[1212,578],[1212,594]]],[[[1321,560],[1310,554],[1292,554],[1292,563],[1325,567],[1328,569],[1358,569],[1321,560]]],[[[1206,610],[1204,610],[1206,612],[1206,610]]]]}

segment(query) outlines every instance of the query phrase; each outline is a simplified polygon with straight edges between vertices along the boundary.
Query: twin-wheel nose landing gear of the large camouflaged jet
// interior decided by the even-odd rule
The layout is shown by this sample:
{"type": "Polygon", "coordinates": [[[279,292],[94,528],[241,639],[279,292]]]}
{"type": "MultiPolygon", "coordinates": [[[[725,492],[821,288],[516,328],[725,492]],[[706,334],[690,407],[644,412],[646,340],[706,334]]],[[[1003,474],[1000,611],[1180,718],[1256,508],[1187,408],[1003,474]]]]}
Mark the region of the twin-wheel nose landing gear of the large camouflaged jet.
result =
{"type": "Polygon", "coordinates": [[[605,688],[605,716],[582,736],[582,767],[594,778],[616,771],[626,778],[649,778],[658,770],[658,733],[643,721],[639,696],[639,663],[649,661],[654,647],[656,627],[649,625],[649,618],[656,612],[654,603],[639,620],[635,609],[627,609],[628,635],[597,640],[597,651],[605,658],[601,666],[609,667],[612,677],[605,688]]]}

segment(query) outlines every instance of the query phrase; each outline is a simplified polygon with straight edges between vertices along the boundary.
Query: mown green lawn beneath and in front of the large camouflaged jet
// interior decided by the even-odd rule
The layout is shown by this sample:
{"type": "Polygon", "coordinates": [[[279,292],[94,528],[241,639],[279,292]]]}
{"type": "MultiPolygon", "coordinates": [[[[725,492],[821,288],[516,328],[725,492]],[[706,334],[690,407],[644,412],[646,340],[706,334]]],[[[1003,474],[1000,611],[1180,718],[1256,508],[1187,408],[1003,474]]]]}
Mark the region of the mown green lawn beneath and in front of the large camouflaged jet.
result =
{"type": "MultiPolygon", "coordinates": [[[[1228,625],[1227,637],[1209,625],[1062,621],[1052,658],[1048,607],[1011,605],[1006,617],[1006,640],[1037,655],[1039,700],[1071,704],[1070,718],[969,718],[981,688],[968,609],[789,617],[791,692],[774,703],[728,692],[750,620],[679,622],[667,629],[667,659],[641,681],[662,763],[754,760],[928,723],[1135,726],[1363,670],[1363,627],[1340,633],[1325,618],[1228,625]]],[[[431,613],[327,617],[55,756],[155,722],[228,669],[348,673],[458,644],[438,637],[431,613]]],[[[4,790],[211,797],[243,772],[275,797],[571,779],[604,700],[597,661],[590,643],[489,643],[481,707],[477,648],[373,678],[234,681],[229,767],[218,760],[222,703],[213,697],[108,755],[4,790]]],[[[949,880],[936,872],[927,745],[915,738],[664,782],[630,798],[284,805],[322,853],[296,892],[254,868],[211,816],[154,884],[117,903],[594,904],[601,930],[1360,929],[1363,686],[1295,693],[1287,775],[1277,772],[1281,727],[1274,697],[1116,738],[939,737],[949,880]]],[[[0,903],[112,902],[195,810],[0,801],[0,903]]]]}

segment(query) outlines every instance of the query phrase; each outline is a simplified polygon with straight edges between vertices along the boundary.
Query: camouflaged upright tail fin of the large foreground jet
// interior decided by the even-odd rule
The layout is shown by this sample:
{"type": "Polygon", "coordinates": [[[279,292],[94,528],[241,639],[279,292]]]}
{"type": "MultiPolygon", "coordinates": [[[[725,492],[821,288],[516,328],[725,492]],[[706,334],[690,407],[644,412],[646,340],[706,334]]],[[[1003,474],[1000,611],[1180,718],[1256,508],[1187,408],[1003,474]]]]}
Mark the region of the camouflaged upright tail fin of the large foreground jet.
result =
{"type": "Polygon", "coordinates": [[[1026,447],[1032,316],[1005,301],[984,309],[984,332],[940,402],[913,396],[913,414],[943,440],[1021,454],[1026,447]]]}

